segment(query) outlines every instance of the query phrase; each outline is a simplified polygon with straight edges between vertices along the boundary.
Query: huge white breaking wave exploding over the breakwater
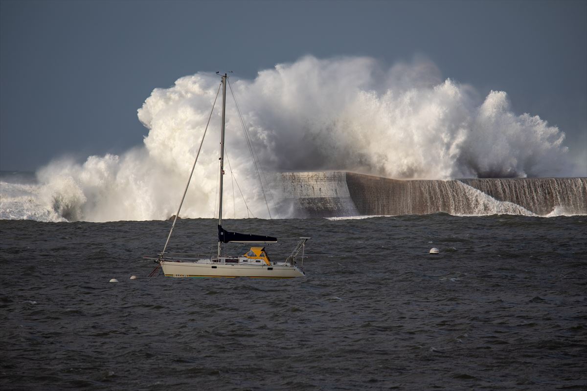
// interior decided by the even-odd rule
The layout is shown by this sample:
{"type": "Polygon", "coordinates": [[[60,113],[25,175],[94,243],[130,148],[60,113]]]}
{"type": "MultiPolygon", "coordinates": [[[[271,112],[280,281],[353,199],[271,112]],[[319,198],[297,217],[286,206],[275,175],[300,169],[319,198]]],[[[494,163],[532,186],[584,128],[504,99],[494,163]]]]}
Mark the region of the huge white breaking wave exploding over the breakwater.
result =
{"type": "MultiPolygon", "coordinates": [[[[450,179],[560,176],[572,170],[557,127],[537,115],[512,113],[503,91],[480,98],[471,86],[443,80],[427,60],[384,69],[369,57],[306,56],[262,70],[254,80],[233,79],[265,171],[336,169],[450,179]]],[[[138,110],[149,128],[142,146],[92,156],[83,164],[54,161],[38,171],[38,183],[25,191],[25,199],[11,195],[16,188],[7,193],[5,184],[1,217],[103,222],[173,215],[219,82],[215,74],[197,73],[153,90],[138,110]]],[[[211,131],[220,127],[220,110],[212,125],[211,131]]],[[[226,177],[225,189],[238,194],[234,189],[240,188],[251,211],[242,201],[229,202],[227,217],[267,217],[246,145],[229,94],[226,147],[234,176],[226,177]]],[[[212,132],[183,217],[214,216],[217,163],[218,136],[212,132]]]]}

